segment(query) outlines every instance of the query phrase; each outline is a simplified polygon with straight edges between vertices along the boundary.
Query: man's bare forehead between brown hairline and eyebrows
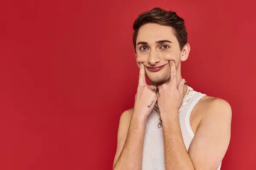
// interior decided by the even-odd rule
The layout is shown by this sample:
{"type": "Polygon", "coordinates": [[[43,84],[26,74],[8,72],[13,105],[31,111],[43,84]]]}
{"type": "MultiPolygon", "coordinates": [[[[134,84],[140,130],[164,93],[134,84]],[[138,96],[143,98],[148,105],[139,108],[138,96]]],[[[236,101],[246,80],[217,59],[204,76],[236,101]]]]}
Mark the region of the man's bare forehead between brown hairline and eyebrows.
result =
{"type": "Polygon", "coordinates": [[[173,43],[178,43],[173,29],[170,26],[162,26],[156,23],[147,23],[140,27],[137,34],[137,42],[144,41],[153,43],[157,40],[170,40],[173,43]]]}

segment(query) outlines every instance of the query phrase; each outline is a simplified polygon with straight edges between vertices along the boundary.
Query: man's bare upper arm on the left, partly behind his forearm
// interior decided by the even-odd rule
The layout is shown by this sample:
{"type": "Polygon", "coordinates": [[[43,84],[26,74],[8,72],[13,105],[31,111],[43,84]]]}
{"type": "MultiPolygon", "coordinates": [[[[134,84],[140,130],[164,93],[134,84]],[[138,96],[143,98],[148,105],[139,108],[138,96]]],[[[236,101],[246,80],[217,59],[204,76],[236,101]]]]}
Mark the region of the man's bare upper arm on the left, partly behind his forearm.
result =
{"type": "Polygon", "coordinates": [[[133,112],[132,109],[124,111],[120,117],[119,127],[118,127],[118,132],[117,132],[116,155],[114,157],[113,166],[115,166],[116,161],[117,161],[118,157],[120,156],[122,148],[125,144],[125,140],[126,140],[128,130],[129,130],[132,112],[133,112]]]}

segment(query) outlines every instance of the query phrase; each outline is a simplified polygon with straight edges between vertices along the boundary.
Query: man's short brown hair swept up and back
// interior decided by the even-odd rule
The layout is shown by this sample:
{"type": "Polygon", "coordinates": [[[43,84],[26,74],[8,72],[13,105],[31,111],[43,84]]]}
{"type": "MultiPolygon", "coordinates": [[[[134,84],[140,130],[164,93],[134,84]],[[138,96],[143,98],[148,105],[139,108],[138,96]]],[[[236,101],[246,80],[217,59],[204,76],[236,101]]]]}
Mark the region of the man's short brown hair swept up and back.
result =
{"type": "Polygon", "coordinates": [[[184,20],[179,17],[174,11],[166,11],[162,8],[153,8],[150,11],[141,13],[134,21],[133,29],[133,43],[134,50],[136,52],[136,40],[138,31],[141,26],[147,23],[157,23],[163,26],[171,26],[175,37],[177,38],[180,50],[187,43],[187,32],[184,24],[184,20]]]}

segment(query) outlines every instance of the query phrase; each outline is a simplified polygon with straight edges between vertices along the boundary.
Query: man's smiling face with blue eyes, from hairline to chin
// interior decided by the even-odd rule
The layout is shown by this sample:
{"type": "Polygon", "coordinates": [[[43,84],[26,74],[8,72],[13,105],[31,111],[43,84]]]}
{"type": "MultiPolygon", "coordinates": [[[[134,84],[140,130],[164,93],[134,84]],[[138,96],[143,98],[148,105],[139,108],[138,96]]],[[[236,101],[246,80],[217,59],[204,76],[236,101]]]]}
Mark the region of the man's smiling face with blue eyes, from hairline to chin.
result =
{"type": "Polygon", "coordinates": [[[136,60],[145,65],[151,82],[161,84],[170,76],[169,60],[178,67],[182,51],[170,26],[148,23],[140,27],[136,41],[136,60]]]}

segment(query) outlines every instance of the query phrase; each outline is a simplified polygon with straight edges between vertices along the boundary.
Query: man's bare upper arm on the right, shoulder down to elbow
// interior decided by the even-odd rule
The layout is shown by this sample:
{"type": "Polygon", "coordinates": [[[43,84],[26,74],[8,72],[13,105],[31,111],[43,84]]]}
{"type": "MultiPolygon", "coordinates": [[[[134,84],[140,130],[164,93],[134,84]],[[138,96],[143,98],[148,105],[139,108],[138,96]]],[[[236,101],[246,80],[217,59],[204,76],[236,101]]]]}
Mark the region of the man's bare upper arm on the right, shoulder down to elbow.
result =
{"type": "Polygon", "coordinates": [[[189,146],[195,170],[218,168],[230,142],[231,115],[231,107],[225,100],[210,102],[189,146]]]}

